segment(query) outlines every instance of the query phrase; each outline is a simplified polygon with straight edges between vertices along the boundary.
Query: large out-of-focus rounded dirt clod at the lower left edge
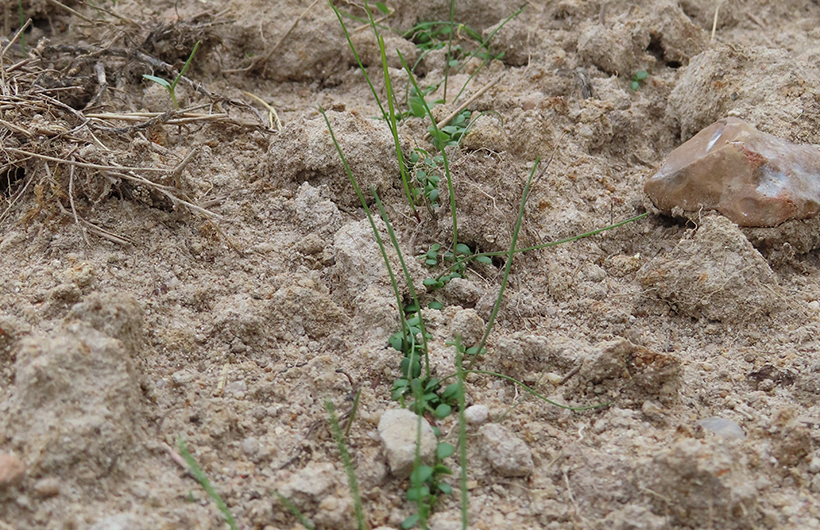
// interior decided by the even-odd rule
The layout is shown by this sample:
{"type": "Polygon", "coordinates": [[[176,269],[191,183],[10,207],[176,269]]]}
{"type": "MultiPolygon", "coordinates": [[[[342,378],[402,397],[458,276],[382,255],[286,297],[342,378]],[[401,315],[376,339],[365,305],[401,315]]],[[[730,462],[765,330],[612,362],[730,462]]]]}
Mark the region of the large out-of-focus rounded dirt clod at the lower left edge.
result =
{"type": "Polygon", "coordinates": [[[0,431],[34,473],[95,483],[134,451],[142,393],[123,341],[68,321],[24,339],[15,368],[0,431]]]}

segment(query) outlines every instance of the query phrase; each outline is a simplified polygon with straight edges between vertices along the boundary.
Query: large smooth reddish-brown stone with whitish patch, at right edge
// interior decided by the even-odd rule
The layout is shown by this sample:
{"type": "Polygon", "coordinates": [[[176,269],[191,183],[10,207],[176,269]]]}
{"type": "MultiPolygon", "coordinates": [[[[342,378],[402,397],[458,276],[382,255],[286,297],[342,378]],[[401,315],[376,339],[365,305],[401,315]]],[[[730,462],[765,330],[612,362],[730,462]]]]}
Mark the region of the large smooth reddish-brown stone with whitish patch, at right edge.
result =
{"type": "Polygon", "coordinates": [[[717,210],[739,226],[820,213],[820,151],[724,118],[667,157],[644,185],[666,213],[717,210]]]}

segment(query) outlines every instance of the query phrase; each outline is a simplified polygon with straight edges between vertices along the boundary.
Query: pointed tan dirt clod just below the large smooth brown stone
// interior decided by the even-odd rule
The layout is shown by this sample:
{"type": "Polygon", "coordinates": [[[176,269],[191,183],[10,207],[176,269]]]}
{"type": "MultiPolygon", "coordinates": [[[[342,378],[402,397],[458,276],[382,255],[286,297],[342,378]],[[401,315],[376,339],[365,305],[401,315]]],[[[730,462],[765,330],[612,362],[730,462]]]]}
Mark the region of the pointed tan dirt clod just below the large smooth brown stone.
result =
{"type": "Polygon", "coordinates": [[[779,307],[780,288],[769,264],[729,219],[703,219],[670,252],[638,271],[647,295],[665,300],[681,314],[749,322],[779,307]]]}

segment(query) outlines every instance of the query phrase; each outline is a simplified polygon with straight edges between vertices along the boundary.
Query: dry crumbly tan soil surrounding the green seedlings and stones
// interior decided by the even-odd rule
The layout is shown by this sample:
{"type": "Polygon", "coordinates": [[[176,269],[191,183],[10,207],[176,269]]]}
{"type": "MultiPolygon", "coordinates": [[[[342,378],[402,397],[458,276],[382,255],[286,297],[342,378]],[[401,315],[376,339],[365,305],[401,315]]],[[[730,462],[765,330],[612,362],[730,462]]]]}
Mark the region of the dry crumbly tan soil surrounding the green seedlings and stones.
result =
{"type": "MultiPolygon", "coordinates": [[[[408,82],[396,48],[421,58],[422,86],[439,83],[445,51],[422,57],[401,35],[447,20],[449,4],[387,5],[396,93],[408,82]]],[[[227,528],[175,461],[180,437],[240,528],[301,528],[275,490],[317,528],[355,528],[325,401],[347,412],[359,389],[349,447],[365,519],[399,528],[415,505],[376,431],[399,406],[401,354],[387,342],[398,308],[318,107],[406,255],[451,245],[452,217],[444,185],[443,206],[410,211],[333,11],[23,6],[30,54],[19,41],[5,51],[0,96],[0,528],[227,528]],[[168,94],[142,75],[173,78],[163,65],[181,68],[197,41],[186,72],[197,85],[177,88],[189,113],[166,113],[168,94]]],[[[17,2],[4,7],[11,37],[17,2]]],[[[487,36],[518,7],[456,2],[455,20],[487,36]]],[[[439,117],[500,78],[450,151],[460,243],[507,249],[528,172],[553,152],[519,247],[651,213],[515,258],[477,366],[561,403],[610,405],[572,412],[470,375],[468,403],[524,453],[505,467],[490,430],[470,427],[470,528],[820,528],[820,229],[672,219],[643,193],[672,149],[725,116],[820,144],[820,6],[727,0],[712,39],[714,15],[707,0],[530,2],[456,103],[480,61],[449,78],[439,117]]],[[[372,34],[352,39],[383,97],[372,34]]],[[[454,44],[475,47],[466,31],[454,44]]],[[[434,152],[424,120],[400,132],[408,156],[434,152]]],[[[418,286],[441,270],[412,263],[418,286]]],[[[443,306],[425,311],[440,376],[453,371],[454,332],[477,342],[503,265],[423,294],[443,306]]],[[[455,443],[456,415],[436,423],[455,443]]],[[[459,521],[454,493],[429,527],[459,521]]]]}

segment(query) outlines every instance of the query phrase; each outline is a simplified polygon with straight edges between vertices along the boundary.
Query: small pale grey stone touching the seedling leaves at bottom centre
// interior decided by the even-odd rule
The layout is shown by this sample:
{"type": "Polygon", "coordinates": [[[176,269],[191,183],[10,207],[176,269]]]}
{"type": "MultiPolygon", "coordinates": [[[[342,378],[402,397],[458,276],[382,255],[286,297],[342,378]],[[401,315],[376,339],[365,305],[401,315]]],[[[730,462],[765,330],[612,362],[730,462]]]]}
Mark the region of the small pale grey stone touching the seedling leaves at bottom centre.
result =
{"type": "MultiPolygon", "coordinates": [[[[419,416],[407,409],[385,411],[379,420],[379,436],[384,443],[390,472],[400,478],[410,475],[416,458],[419,416]]],[[[430,463],[436,450],[436,434],[421,418],[421,459],[430,463]]]]}

